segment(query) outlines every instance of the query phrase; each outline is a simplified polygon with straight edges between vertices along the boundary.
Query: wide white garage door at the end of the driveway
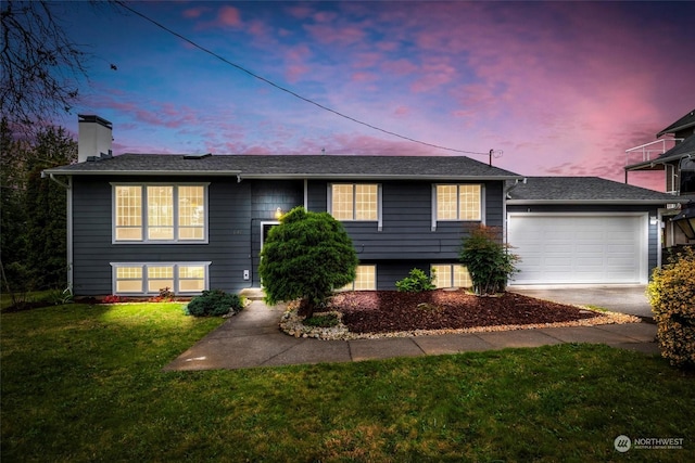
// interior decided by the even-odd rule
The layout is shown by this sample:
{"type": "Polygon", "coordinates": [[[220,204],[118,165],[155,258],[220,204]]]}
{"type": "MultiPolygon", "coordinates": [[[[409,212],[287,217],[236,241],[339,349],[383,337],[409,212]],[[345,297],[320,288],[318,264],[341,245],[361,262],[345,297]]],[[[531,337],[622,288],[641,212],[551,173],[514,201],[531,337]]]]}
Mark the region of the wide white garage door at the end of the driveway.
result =
{"type": "Polygon", "coordinates": [[[521,257],[511,284],[628,284],[647,281],[648,216],[508,215],[521,257]]]}

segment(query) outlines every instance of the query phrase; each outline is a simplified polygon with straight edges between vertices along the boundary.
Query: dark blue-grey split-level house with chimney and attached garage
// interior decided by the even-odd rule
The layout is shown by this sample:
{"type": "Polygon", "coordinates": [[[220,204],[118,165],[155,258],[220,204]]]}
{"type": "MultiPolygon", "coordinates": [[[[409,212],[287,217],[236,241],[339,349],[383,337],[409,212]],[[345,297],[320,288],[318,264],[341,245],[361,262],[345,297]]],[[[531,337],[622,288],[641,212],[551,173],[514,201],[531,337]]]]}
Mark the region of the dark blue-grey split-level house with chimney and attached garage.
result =
{"type": "MultiPolygon", "coordinates": [[[[439,286],[468,285],[458,250],[462,236],[480,223],[506,231],[511,245],[518,240],[517,250],[531,262],[533,252],[527,247],[538,252],[538,243],[529,241],[527,226],[543,228],[548,217],[558,219],[558,228],[546,230],[560,234],[559,246],[581,243],[578,252],[553,258],[580,263],[605,259],[606,246],[622,246],[618,242],[626,234],[637,235],[627,250],[608,257],[623,259],[634,252],[636,260],[605,266],[578,280],[582,283],[604,283],[606,272],[623,272],[632,265],[639,270],[626,270],[619,282],[645,283],[658,263],[652,217],[667,195],[622,183],[609,182],[610,190],[608,181],[572,178],[549,189],[548,180],[525,183],[522,176],[464,156],[112,156],[111,137],[111,123],[80,116],[78,163],[45,171],[67,191],[68,280],[77,295],[150,295],[164,287],[194,295],[207,288],[258,287],[263,241],[279,215],[295,206],[329,211],[343,222],[361,261],[355,290],[394,288],[415,267],[437,269],[439,286]],[[592,189],[593,182],[601,183],[605,195],[533,192],[579,191],[585,182],[592,189]],[[568,222],[568,211],[583,218],[581,223],[568,222]],[[616,215],[624,215],[616,226],[627,229],[590,220],[616,215]],[[567,227],[580,224],[592,235],[604,228],[608,232],[598,242],[583,241],[583,232],[568,234],[567,227]]],[[[548,265],[548,256],[541,262],[548,265]]],[[[533,284],[580,276],[557,280],[546,272],[530,281],[526,272],[535,270],[525,267],[519,281],[533,284]]]]}

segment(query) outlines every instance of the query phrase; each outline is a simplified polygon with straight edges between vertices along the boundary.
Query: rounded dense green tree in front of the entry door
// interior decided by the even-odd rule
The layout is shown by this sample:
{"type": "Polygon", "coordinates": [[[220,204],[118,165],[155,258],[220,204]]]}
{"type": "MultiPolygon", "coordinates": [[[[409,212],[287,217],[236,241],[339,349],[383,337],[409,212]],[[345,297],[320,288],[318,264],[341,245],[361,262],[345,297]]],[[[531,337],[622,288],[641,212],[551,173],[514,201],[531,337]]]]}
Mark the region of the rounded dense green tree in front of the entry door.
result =
{"type": "Polygon", "coordinates": [[[268,232],[258,272],[265,300],[301,299],[300,312],[312,317],[333,290],[355,279],[357,254],[342,223],[328,213],[295,207],[268,232]]]}

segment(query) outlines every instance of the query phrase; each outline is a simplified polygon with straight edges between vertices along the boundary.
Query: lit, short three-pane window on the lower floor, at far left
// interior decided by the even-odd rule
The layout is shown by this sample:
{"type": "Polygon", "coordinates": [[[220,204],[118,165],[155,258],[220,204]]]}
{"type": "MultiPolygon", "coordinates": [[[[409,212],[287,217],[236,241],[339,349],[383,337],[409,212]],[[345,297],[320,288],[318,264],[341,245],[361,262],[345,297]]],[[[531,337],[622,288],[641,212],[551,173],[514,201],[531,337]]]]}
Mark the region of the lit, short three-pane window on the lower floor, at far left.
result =
{"type": "Polygon", "coordinates": [[[210,262],[111,263],[114,294],[159,294],[168,287],[174,294],[200,294],[207,288],[210,262]]]}

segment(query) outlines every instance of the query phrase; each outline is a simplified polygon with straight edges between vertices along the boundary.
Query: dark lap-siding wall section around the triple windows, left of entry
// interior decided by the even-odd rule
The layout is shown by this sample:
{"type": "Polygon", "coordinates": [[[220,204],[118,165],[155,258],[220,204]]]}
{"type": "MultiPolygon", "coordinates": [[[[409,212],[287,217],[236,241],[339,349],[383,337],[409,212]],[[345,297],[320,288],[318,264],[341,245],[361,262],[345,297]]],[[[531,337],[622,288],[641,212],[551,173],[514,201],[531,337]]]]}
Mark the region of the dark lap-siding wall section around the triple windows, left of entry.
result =
{"type": "Polygon", "coordinates": [[[236,178],[195,178],[210,182],[208,244],[113,244],[110,182],[191,181],[162,177],[77,177],[73,180],[73,278],[76,295],[108,295],[110,262],[211,261],[210,287],[238,291],[251,286],[251,184],[236,178]]]}

